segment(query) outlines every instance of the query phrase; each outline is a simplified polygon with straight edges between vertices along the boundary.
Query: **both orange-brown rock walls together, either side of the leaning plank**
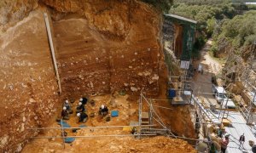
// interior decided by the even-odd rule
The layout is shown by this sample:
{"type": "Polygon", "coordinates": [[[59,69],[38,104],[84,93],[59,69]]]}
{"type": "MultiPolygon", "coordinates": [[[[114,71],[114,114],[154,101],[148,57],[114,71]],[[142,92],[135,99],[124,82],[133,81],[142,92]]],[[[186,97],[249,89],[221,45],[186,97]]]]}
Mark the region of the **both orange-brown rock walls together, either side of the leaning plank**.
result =
{"type": "MultiPolygon", "coordinates": [[[[59,104],[43,13],[49,10],[64,97],[158,94],[161,16],[144,3],[0,2],[0,152],[20,151],[59,104]]],[[[61,107],[61,105],[59,105],[61,107]]]]}

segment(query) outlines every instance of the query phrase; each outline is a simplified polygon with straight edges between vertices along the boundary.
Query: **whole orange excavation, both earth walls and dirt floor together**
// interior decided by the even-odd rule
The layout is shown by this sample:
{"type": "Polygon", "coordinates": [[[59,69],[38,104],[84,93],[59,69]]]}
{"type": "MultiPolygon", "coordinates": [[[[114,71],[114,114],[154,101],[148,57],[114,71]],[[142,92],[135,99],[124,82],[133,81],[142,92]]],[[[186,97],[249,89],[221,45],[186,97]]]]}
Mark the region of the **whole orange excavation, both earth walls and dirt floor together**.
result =
{"type": "MultiPolygon", "coordinates": [[[[137,121],[137,99],[142,89],[148,98],[166,98],[167,73],[160,42],[160,26],[160,15],[140,2],[71,3],[67,0],[67,3],[61,4],[58,1],[41,1],[23,20],[3,31],[0,37],[0,87],[3,88],[0,93],[0,149],[21,151],[30,140],[24,152],[63,150],[61,139],[30,139],[38,135],[38,131],[28,128],[58,127],[54,120],[60,116],[64,99],[76,99],[73,108],[81,96],[94,99],[96,106],[86,108],[90,113],[96,112],[102,104],[119,111],[119,117],[112,118],[110,122],[96,116],[89,119],[86,126],[129,125],[131,121],[137,121]],[[84,8],[80,8],[81,5],[84,8]],[[45,12],[51,19],[61,95],[58,94],[44,23],[45,12]],[[125,91],[125,96],[119,95],[121,90],[125,91]],[[115,106],[110,104],[113,94],[116,95],[115,106]]],[[[174,133],[195,137],[186,106],[174,108],[168,102],[155,102],[154,105],[172,108],[156,111],[174,133]]],[[[77,118],[74,114],[71,116],[68,123],[78,127],[77,118]]],[[[122,129],[94,132],[125,133],[122,129]]],[[[88,133],[93,134],[86,130],[80,130],[78,134],[88,133]]],[[[39,136],[60,134],[55,130],[39,132],[39,136]]],[[[113,150],[128,150],[122,148],[124,146],[119,144],[119,139],[112,140],[113,144],[109,144],[109,147],[113,150]]],[[[122,140],[127,146],[137,144],[131,138],[122,140]]],[[[164,137],[140,142],[157,145],[155,142],[159,140],[166,142],[162,144],[166,150],[175,152],[176,145],[171,146],[172,141],[183,144],[182,150],[193,150],[181,140],[164,137]]],[[[67,145],[66,151],[88,149],[94,144],[98,145],[95,150],[100,150],[106,143],[108,139],[77,139],[72,144],[74,147],[67,145]],[[80,144],[84,142],[88,145],[81,147],[80,144]]],[[[142,150],[143,147],[143,144],[138,145],[135,150],[142,150]]]]}

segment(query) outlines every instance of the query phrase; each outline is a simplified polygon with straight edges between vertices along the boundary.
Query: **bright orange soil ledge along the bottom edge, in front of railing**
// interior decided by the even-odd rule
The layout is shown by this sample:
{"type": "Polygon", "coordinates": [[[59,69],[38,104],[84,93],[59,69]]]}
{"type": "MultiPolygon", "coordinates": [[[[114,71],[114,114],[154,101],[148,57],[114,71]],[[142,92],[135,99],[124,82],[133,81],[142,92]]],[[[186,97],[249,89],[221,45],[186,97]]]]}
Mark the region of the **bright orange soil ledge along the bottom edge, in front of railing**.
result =
{"type": "MultiPolygon", "coordinates": [[[[24,152],[196,152],[187,142],[166,137],[148,139],[134,139],[132,137],[77,139],[72,145],[66,144],[65,150],[61,143],[48,139],[34,141],[32,144],[37,147],[32,150],[26,150],[25,148],[24,152]],[[48,147],[44,147],[45,144],[48,147]]],[[[26,147],[29,147],[29,145],[26,147]]]]}

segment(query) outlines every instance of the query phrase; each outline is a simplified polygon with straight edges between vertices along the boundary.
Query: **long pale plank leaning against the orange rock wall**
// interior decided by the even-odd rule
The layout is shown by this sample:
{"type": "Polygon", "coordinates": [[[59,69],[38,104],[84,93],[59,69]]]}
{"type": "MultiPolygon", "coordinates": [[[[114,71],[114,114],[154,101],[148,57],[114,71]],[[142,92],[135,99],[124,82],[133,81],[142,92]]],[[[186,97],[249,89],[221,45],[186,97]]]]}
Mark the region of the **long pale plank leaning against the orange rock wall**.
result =
{"type": "Polygon", "coordinates": [[[57,62],[55,59],[55,48],[54,48],[54,44],[53,44],[52,37],[51,37],[51,32],[50,32],[50,27],[49,27],[49,19],[48,19],[47,13],[44,13],[44,21],[45,21],[45,26],[47,29],[48,38],[49,38],[51,57],[52,57],[52,60],[53,60],[54,66],[55,66],[55,75],[56,75],[57,81],[58,81],[59,93],[61,94],[61,80],[60,80],[60,76],[59,76],[57,62]]]}

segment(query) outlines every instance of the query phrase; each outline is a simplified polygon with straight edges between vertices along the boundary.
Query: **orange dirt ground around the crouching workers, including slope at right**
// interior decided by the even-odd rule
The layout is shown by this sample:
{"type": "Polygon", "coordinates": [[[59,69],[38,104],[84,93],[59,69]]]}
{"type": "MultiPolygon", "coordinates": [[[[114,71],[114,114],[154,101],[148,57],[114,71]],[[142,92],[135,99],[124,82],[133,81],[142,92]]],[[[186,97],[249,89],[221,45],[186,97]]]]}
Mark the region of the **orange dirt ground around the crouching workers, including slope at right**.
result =
{"type": "MultiPolygon", "coordinates": [[[[124,131],[122,127],[117,128],[92,128],[96,126],[128,126],[131,121],[138,121],[138,97],[119,95],[118,92],[113,94],[115,97],[114,103],[113,97],[110,94],[103,96],[90,97],[96,101],[96,105],[92,106],[90,103],[86,105],[86,112],[96,113],[100,105],[108,105],[110,111],[119,111],[119,116],[111,117],[110,122],[106,122],[102,117],[95,116],[89,117],[89,120],[84,123],[89,129],[81,129],[78,133],[73,133],[71,130],[67,130],[68,136],[89,136],[89,135],[114,135],[114,134],[130,134],[130,132],[124,131]]],[[[148,99],[151,97],[147,97],[148,99]]],[[[153,99],[166,99],[166,72],[162,73],[160,77],[160,95],[152,97],[153,99]]],[[[73,109],[78,105],[78,100],[73,104],[73,109]]],[[[169,109],[162,109],[154,107],[154,110],[161,117],[167,127],[172,129],[173,133],[180,136],[189,138],[195,138],[194,125],[191,122],[189,115],[189,106],[172,106],[168,101],[153,101],[153,105],[164,106],[169,109]]],[[[146,108],[146,103],[143,102],[143,108],[146,108]]],[[[143,111],[146,111],[143,110],[143,111]]],[[[61,111],[59,111],[61,112],[61,111]]],[[[77,116],[71,115],[71,119],[67,122],[72,127],[79,127],[77,123],[77,116]]],[[[56,122],[49,124],[49,127],[60,127],[56,122]]],[[[48,130],[38,135],[38,137],[45,136],[61,136],[60,130],[48,130]]],[[[180,139],[168,139],[166,137],[151,137],[150,139],[134,139],[133,137],[96,137],[96,138],[77,138],[73,144],[66,144],[66,149],[63,149],[61,139],[32,139],[22,152],[77,152],[82,150],[89,150],[90,152],[98,152],[104,150],[106,152],[193,152],[191,145],[188,145],[186,141],[180,139]],[[147,143],[147,144],[145,144],[147,143]],[[153,146],[153,147],[145,147],[153,146]],[[93,146],[93,147],[91,147],[93,146]],[[103,149],[102,146],[105,146],[103,149]],[[161,147],[159,147],[161,146],[161,147]],[[144,148],[143,148],[144,147],[144,148]],[[164,148],[164,150],[163,150],[164,148]]]]}

